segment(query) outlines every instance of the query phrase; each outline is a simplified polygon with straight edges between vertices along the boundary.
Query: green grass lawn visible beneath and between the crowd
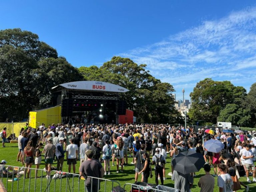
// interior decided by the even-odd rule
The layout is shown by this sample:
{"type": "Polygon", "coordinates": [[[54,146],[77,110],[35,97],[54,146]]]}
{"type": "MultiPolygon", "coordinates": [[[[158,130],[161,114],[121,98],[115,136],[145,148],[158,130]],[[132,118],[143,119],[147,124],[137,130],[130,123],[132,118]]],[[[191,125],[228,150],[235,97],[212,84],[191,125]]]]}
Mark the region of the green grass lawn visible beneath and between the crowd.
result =
{"type": "MultiPolygon", "coordinates": [[[[6,147],[2,148],[0,147],[0,161],[1,160],[6,160],[7,161],[7,165],[11,165],[11,166],[20,166],[22,167],[20,162],[16,162],[16,158],[17,158],[17,153],[18,153],[18,144],[14,143],[6,143],[6,147]]],[[[169,155],[169,154],[168,154],[169,155]]],[[[113,180],[113,181],[118,181],[121,184],[121,187],[124,186],[125,183],[134,183],[134,173],[135,171],[133,171],[134,169],[134,165],[130,164],[132,162],[132,158],[128,158],[128,162],[129,165],[124,167],[124,172],[123,173],[116,173],[116,166],[112,166],[111,163],[111,175],[106,175],[104,176],[105,179],[109,179],[109,180],[113,180]]],[[[168,176],[168,173],[171,172],[171,158],[168,157],[167,158],[167,164],[166,164],[166,180],[164,181],[164,185],[169,186],[169,187],[174,187],[174,181],[171,180],[170,176],[168,176]]],[[[115,162],[116,164],[116,162],[115,162]]],[[[79,172],[79,165],[76,165],[76,173],[78,174],[79,172]]],[[[104,164],[102,164],[104,166],[104,164]]],[[[53,164],[54,167],[57,166],[57,162],[55,161],[53,164]]],[[[35,168],[35,165],[32,166],[32,168],[35,168]]],[[[40,169],[44,168],[44,164],[42,163],[40,165],[40,169]]],[[[68,172],[68,166],[67,166],[67,161],[64,161],[63,164],[63,171],[64,172],[68,172]]],[[[211,170],[211,173],[213,174],[213,168],[211,170]]],[[[39,172],[38,174],[39,176],[41,176],[41,172],[39,172]]],[[[43,173],[43,176],[45,176],[46,174],[43,173]]],[[[197,183],[199,181],[199,178],[201,176],[204,175],[204,170],[201,169],[199,172],[196,173],[196,177],[194,178],[194,185],[191,189],[192,192],[199,192],[200,188],[197,186],[197,183]]],[[[35,179],[35,175],[34,175],[34,171],[31,172],[31,177],[32,179],[23,179],[23,176],[19,178],[18,181],[13,181],[13,182],[8,182],[6,180],[6,178],[3,178],[3,184],[6,187],[6,185],[8,185],[8,191],[12,191],[12,187],[13,187],[13,191],[40,191],[40,189],[42,188],[42,191],[45,191],[45,189],[47,188],[47,185],[49,184],[46,178],[39,178],[39,179],[35,179]],[[18,190],[17,190],[17,185],[19,185],[18,190]]],[[[153,178],[149,178],[149,183],[154,184],[155,183],[155,175],[153,173],[153,178]]],[[[1,175],[0,175],[0,179],[1,179],[1,175]]],[[[9,178],[10,179],[10,178],[9,178]]],[[[139,176],[138,181],[140,181],[141,177],[139,176]]],[[[252,176],[250,176],[250,179],[252,180],[252,176]]],[[[240,181],[244,182],[246,185],[248,184],[246,181],[246,177],[241,177],[240,181]]],[[[106,191],[107,192],[111,192],[111,186],[112,184],[109,182],[101,183],[101,190],[100,191],[104,191],[105,188],[105,184],[106,184],[106,191]]],[[[114,186],[116,186],[116,184],[114,184],[114,186]]],[[[250,186],[250,191],[251,192],[255,192],[256,191],[256,183],[252,183],[249,184],[250,186]]],[[[125,188],[127,191],[129,190],[129,187],[125,188]]],[[[70,178],[70,179],[62,179],[60,180],[52,180],[50,183],[50,187],[48,188],[47,191],[84,191],[84,184],[83,181],[80,183],[78,183],[78,178],[74,177],[74,178],[70,178]],[[56,182],[56,183],[55,183],[56,182]],[[61,182],[61,183],[60,183],[61,182]],[[61,188],[60,188],[61,186],[61,188]]],[[[217,192],[219,191],[219,188],[217,187],[217,177],[215,177],[215,188],[214,191],[217,192]]],[[[241,190],[239,191],[245,191],[245,188],[242,187],[241,190]]]]}

